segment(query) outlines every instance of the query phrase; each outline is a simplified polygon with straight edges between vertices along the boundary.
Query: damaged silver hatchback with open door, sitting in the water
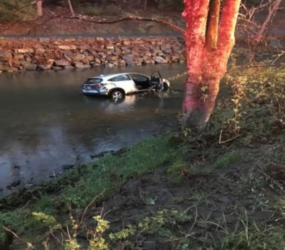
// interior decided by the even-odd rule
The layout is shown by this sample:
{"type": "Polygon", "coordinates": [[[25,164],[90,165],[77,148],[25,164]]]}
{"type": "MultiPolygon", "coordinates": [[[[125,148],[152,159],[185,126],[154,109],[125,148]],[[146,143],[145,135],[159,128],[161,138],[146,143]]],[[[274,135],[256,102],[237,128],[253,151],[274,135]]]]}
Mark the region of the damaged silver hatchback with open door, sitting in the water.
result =
{"type": "Polygon", "coordinates": [[[159,71],[151,76],[139,73],[115,73],[90,77],[82,84],[84,95],[108,96],[119,100],[126,95],[155,90],[162,92],[170,88],[170,82],[161,77],[159,71]]]}

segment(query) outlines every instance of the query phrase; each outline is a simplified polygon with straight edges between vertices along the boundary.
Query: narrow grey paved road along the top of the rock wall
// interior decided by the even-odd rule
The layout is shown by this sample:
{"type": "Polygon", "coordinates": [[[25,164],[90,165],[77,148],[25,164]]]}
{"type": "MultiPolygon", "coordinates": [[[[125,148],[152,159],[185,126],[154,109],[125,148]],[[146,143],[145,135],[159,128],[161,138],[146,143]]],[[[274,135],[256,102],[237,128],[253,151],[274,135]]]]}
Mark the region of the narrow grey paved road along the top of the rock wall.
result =
{"type": "Polygon", "coordinates": [[[172,33],[132,33],[132,34],[63,34],[63,35],[39,35],[39,36],[23,36],[23,35],[1,35],[0,39],[20,39],[20,38],[95,38],[95,37],[146,37],[146,36],[177,36],[183,37],[180,33],[172,32],[172,33]]]}

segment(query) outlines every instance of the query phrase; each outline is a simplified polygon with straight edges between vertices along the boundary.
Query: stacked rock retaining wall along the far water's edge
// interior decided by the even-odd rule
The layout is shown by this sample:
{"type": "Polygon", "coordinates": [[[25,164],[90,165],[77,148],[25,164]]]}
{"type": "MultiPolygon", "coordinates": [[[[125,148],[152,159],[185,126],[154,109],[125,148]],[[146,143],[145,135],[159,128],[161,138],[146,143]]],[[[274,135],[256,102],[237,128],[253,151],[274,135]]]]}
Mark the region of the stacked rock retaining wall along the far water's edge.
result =
{"type": "Polygon", "coordinates": [[[1,39],[0,71],[180,63],[184,49],[176,37],[1,39]]]}

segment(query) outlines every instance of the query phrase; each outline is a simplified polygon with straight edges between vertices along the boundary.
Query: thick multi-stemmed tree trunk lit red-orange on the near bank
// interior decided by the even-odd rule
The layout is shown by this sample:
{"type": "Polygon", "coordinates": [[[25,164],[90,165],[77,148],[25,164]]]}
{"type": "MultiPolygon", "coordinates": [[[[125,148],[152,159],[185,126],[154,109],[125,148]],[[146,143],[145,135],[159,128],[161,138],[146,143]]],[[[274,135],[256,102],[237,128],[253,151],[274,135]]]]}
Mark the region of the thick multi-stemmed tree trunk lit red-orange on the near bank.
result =
{"type": "Polygon", "coordinates": [[[182,127],[204,128],[215,106],[219,82],[235,43],[240,0],[184,0],[187,80],[182,127]]]}

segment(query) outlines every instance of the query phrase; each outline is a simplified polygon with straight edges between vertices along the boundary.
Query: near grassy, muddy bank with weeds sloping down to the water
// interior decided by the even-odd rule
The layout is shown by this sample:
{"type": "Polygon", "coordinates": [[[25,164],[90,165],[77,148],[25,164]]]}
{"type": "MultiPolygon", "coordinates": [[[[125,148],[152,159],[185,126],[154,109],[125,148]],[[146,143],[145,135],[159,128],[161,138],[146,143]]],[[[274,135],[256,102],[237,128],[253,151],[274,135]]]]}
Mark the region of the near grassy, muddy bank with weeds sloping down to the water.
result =
{"type": "Polygon", "coordinates": [[[150,138],[0,200],[2,240],[12,230],[11,249],[283,249],[285,69],[233,66],[222,86],[205,133],[150,138]]]}

